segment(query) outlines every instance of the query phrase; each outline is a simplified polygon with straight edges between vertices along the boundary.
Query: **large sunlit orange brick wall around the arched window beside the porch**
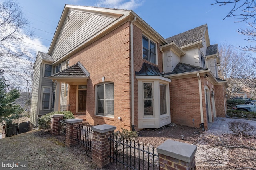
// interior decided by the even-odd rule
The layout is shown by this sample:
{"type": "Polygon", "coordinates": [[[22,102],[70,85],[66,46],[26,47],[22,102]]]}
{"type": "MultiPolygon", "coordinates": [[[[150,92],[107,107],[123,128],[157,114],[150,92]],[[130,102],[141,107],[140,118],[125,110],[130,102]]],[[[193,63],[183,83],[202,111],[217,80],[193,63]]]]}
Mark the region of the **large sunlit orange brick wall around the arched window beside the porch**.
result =
{"type": "MultiPolygon", "coordinates": [[[[98,39],[70,57],[70,66],[78,61],[90,73],[87,81],[86,121],[91,125],[109,124],[130,129],[130,22],[98,39]],[[95,86],[114,82],[114,118],[96,116],[95,86]],[[122,117],[122,120],[118,120],[122,117]]],[[[70,98],[71,95],[70,89],[70,98]]],[[[71,102],[71,100],[69,100],[71,102]]],[[[75,101],[75,100],[74,100],[75,101]]]]}

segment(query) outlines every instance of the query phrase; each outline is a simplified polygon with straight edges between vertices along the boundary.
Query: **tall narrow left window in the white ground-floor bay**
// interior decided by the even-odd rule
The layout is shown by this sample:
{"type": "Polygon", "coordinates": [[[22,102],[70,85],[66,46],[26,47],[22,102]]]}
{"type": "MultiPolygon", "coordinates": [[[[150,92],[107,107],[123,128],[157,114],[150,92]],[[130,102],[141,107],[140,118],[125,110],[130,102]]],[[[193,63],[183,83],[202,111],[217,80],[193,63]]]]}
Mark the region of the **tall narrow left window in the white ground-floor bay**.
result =
{"type": "Polygon", "coordinates": [[[153,84],[143,83],[144,116],[153,115],[153,84]]]}

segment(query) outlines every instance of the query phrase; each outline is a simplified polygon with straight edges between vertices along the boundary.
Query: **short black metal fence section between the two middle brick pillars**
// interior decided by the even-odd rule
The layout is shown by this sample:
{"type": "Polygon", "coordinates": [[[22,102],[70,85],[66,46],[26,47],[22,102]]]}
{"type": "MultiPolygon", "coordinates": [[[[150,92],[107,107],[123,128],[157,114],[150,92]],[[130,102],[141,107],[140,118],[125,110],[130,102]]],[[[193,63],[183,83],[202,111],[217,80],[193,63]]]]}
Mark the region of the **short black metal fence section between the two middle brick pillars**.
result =
{"type": "Polygon", "coordinates": [[[92,129],[86,125],[77,126],[77,141],[86,149],[92,150],[92,129]]]}

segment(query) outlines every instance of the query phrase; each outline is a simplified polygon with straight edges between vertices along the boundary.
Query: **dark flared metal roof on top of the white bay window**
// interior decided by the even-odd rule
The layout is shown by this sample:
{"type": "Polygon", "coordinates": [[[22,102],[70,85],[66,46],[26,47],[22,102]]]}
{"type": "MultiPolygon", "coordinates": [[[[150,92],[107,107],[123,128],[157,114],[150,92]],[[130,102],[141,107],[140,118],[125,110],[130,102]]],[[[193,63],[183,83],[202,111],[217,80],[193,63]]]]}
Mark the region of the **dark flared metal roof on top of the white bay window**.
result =
{"type": "Polygon", "coordinates": [[[136,76],[163,76],[159,68],[148,63],[143,63],[139,72],[135,72],[136,76]]]}

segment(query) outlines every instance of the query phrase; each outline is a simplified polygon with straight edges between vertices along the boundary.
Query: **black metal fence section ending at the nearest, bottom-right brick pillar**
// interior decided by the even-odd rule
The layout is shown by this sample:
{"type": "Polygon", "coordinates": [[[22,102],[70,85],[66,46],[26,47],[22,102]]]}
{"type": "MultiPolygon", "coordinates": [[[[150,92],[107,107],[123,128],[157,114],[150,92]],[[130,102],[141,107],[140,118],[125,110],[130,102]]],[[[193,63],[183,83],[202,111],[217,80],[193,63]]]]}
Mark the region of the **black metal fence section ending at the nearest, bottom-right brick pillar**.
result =
{"type": "Polygon", "coordinates": [[[159,156],[152,145],[110,136],[111,162],[133,170],[158,170],[159,156]]]}

